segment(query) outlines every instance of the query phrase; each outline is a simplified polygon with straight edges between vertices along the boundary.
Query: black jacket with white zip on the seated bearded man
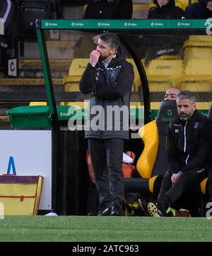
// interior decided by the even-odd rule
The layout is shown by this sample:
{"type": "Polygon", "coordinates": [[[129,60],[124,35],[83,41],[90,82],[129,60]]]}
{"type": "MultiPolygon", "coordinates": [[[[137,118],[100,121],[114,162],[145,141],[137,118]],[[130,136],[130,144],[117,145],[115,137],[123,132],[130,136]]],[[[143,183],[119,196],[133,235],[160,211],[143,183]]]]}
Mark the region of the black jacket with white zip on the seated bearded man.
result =
{"type": "Polygon", "coordinates": [[[171,172],[185,172],[211,165],[211,152],[204,138],[204,129],[211,122],[206,116],[194,111],[188,121],[177,117],[170,123],[168,162],[171,172]]]}

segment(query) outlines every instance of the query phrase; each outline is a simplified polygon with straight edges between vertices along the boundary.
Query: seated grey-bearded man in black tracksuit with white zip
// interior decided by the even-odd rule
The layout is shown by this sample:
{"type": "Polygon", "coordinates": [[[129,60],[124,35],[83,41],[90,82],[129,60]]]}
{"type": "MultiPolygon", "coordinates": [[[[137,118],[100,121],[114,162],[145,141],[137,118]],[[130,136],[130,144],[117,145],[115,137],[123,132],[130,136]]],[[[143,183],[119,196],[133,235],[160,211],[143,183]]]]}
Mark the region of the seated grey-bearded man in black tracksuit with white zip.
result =
{"type": "Polygon", "coordinates": [[[208,176],[211,155],[204,138],[210,119],[196,111],[191,91],[177,95],[178,117],[170,123],[168,134],[169,170],[163,177],[156,204],[148,204],[151,216],[165,216],[167,208],[182,194],[208,176]]]}

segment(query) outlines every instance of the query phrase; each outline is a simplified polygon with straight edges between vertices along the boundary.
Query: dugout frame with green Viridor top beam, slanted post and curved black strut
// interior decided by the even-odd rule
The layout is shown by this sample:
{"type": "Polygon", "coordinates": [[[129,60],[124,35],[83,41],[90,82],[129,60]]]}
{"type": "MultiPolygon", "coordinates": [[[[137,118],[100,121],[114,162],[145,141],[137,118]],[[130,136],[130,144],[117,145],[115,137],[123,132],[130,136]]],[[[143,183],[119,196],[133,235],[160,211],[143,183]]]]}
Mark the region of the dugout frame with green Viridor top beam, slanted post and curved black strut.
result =
{"type": "Polygon", "coordinates": [[[211,28],[207,20],[39,20],[35,24],[37,41],[40,48],[42,69],[45,78],[47,92],[47,104],[52,115],[52,126],[59,128],[59,118],[55,103],[52,77],[49,69],[47,45],[45,43],[44,30],[69,29],[82,31],[95,31],[97,33],[114,32],[120,36],[122,44],[129,50],[141,79],[144,106],[144,124],[151,120],[150,115],[150,91],[146,72],[141,60],[137,57],[136,49],[132,49],[130,42],[122,35],[207,35],[206,29],[211,28]]]}

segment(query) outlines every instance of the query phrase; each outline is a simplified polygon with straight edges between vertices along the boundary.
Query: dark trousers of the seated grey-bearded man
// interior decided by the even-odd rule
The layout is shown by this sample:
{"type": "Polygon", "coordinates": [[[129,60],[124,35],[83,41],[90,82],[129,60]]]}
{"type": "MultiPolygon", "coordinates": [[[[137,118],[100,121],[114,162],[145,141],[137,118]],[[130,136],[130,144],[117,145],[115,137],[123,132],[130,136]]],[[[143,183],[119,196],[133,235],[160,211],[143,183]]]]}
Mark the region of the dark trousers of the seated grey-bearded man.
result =
{"type": "Polygon", "coordinates": [[[166,210],[169,206],[172,206],[185,191],[198,185],[207,176],[208,173],[206,170],[189,170],[180,174],[177,182],[172,185],[172,173],[169,171],[166,172],[158,194],[158,206],[166,210]]]}

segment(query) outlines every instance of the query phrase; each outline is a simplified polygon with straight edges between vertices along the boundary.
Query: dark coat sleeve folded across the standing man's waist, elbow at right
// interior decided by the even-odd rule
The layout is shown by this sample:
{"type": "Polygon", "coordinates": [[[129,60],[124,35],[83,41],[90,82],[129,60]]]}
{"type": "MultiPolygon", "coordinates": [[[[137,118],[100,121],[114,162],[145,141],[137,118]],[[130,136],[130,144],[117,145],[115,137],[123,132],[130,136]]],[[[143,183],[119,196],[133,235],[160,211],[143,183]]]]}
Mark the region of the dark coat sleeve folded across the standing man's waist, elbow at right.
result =
{"type": "Polygon", "coordinates": [[[114,84],[99,85],[94,89],[95,96],[100,99],[117,99],[123,97],[128,91],[131,91],[134,82],[134,69],[132,65],[126,62],[121,68],[114,84]]]}

